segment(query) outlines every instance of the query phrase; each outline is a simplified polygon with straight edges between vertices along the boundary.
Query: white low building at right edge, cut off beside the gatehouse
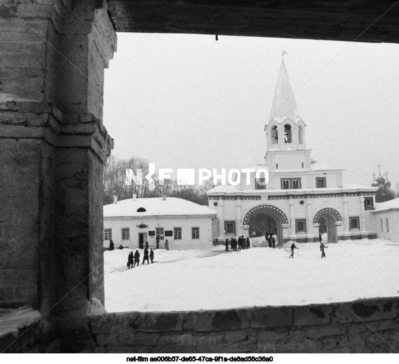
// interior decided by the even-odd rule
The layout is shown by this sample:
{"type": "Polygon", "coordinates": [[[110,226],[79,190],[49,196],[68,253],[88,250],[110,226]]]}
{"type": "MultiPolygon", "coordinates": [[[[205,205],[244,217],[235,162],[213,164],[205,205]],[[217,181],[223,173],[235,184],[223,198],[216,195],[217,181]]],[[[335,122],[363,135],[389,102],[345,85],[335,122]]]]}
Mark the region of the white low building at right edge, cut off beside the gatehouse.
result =
{"type": "Polygon", "coordinates": [[[376,203],[372,215],[377,236],[399,242],[399,198],[376,203]]]}

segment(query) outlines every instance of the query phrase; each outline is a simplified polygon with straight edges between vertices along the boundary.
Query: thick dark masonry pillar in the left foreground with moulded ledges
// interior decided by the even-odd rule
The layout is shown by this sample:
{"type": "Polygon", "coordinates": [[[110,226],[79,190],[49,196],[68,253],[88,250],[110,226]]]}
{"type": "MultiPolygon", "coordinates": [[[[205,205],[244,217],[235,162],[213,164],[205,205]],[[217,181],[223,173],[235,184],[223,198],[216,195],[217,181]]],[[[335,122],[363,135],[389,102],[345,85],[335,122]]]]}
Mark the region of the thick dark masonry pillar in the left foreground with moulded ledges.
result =
{"type": "Polygon", "coordinates": [[[102,172],[113,141],[102,89],[116,33],[105,1],[18,3],[51,45],[1,9],[0,305],[44,314],[59,302],[43,332],[84,341],[88,300],[104,304],[102,172]]]}

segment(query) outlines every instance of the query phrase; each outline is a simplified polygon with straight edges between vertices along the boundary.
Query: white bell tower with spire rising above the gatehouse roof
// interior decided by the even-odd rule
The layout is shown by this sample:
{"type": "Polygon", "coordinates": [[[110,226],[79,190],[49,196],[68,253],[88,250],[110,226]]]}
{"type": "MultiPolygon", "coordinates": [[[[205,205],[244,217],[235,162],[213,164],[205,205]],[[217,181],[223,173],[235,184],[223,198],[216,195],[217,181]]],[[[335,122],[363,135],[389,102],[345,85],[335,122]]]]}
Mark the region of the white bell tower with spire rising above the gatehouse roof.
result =
{"type": "Polygon", "coordinates": [[[281,57],[280,73],[274,93],[267,137],[266,165],[274,170],[310,170],[310,149],[306,149],[305,129],[296,106],[294,93],[281,57]]]}

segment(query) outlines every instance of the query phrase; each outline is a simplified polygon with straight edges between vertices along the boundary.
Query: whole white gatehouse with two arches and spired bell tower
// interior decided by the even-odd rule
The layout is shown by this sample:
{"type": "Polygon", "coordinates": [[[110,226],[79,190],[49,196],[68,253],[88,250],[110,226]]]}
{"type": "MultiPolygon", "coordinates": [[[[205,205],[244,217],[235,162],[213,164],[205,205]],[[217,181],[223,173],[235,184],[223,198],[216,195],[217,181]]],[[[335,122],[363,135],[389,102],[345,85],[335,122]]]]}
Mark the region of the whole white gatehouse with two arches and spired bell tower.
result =
{"type": "Polygon", "coordinates": [[[289,240],[314,242],[322,232],[320,225],[327,228],[329,242],[376,237],[371,212],[378,188],[344,184],[342,169],[312,164],[306,127],[282,60],[265,125],[263,168],[269,171],[269,182],[256,180],[255,171],[262,167],[254,166],[251,185],[246,185],[246,174],[241,173],[238,185],[216,186],[207,192],[209,207],[218,212],[215,238],[219,243],[232,236],[265,233],[277,235],[279,245],[289,240]],[[259,215],[262,218],[256,219],[259,215]]]}

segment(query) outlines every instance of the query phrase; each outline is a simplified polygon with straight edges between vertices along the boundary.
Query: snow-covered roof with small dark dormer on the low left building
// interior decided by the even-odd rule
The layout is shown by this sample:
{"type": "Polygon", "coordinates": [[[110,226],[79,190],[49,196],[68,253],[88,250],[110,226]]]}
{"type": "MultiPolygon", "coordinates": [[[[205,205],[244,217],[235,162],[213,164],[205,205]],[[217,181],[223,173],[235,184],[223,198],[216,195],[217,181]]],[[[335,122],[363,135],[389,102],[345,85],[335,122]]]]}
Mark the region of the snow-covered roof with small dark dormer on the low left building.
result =
{"type": "Polygon", "coordinates": [[[104,217],[127,216],[165,216],[165,215],[216,215],[216,211],[208,206],[183,200],[182,198],[162,197],[154,198],[129,198],[103,206],[104,217]],[[137,209],[143,207],[145,212],[138,213],[137,209]]]}

